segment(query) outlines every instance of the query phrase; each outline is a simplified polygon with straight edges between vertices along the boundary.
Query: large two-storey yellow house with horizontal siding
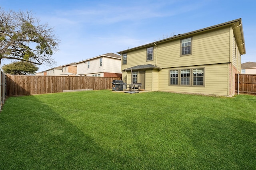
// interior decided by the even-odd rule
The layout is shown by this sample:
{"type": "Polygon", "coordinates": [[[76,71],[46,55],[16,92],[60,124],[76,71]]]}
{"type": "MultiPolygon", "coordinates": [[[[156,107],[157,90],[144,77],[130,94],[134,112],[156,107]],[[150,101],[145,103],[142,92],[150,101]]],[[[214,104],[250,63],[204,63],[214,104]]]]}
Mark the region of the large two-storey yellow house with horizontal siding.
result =
{"type": "Polygon", "coordinates": [[[233,96],[240,57],[246,53],[242,20],[118,53],[122,55],[122,80],[127,84],[140,82],[141,89],[148,91],[233,96]]]}

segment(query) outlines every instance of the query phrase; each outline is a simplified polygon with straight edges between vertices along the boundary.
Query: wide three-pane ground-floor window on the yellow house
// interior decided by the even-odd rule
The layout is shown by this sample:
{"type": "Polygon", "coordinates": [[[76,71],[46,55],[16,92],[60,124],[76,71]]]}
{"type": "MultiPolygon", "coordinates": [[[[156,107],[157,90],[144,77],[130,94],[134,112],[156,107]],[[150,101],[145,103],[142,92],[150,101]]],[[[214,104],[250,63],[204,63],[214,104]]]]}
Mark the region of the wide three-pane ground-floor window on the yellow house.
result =
{"type": "Polygon", "coordinates": [[[169,85],[204,86],[204,68],[169,70],[169,85]]]}

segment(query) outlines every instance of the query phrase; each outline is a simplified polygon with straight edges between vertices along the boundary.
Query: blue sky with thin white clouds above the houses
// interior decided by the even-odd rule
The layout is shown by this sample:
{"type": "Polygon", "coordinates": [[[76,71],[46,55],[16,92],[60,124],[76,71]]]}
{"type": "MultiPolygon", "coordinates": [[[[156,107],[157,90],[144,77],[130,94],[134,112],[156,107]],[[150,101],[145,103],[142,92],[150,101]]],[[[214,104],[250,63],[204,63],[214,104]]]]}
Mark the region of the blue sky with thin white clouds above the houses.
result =
{"type": "MultiPolygon", "coordinates": [[[[0,0],[0,6],[32,11],[41,23],[54,27],[60,44],[52,67],[238,18],[242,18],[246,46],[241,62],[256,62],[255,0],[0,0]]],[[[38,72],[49,68],[42,65],[38,72]]]]}

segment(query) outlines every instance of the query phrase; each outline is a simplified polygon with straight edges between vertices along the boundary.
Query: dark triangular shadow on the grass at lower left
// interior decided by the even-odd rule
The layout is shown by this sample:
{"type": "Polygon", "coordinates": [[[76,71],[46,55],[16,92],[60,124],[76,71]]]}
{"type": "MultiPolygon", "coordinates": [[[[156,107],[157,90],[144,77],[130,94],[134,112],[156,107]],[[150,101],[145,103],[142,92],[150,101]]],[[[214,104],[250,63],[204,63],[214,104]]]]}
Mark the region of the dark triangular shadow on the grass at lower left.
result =
{"type": "Polygon", "coordinates": [[[0,116],[1,169],[122,168],[118,158],[33,96],[8,98],[0,116]]]}

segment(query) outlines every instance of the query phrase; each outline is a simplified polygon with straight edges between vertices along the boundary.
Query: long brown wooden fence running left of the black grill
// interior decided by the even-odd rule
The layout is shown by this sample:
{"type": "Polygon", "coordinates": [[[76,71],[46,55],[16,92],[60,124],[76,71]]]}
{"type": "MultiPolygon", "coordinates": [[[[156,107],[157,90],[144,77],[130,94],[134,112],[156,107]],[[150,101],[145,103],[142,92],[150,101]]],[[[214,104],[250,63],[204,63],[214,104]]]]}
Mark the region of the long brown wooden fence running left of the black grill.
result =
{"type": "Polygon", "coordinates": [[[63,90],[112,89],[117,77],[7,75],[7,96],[58,93],[63,90]]]}

